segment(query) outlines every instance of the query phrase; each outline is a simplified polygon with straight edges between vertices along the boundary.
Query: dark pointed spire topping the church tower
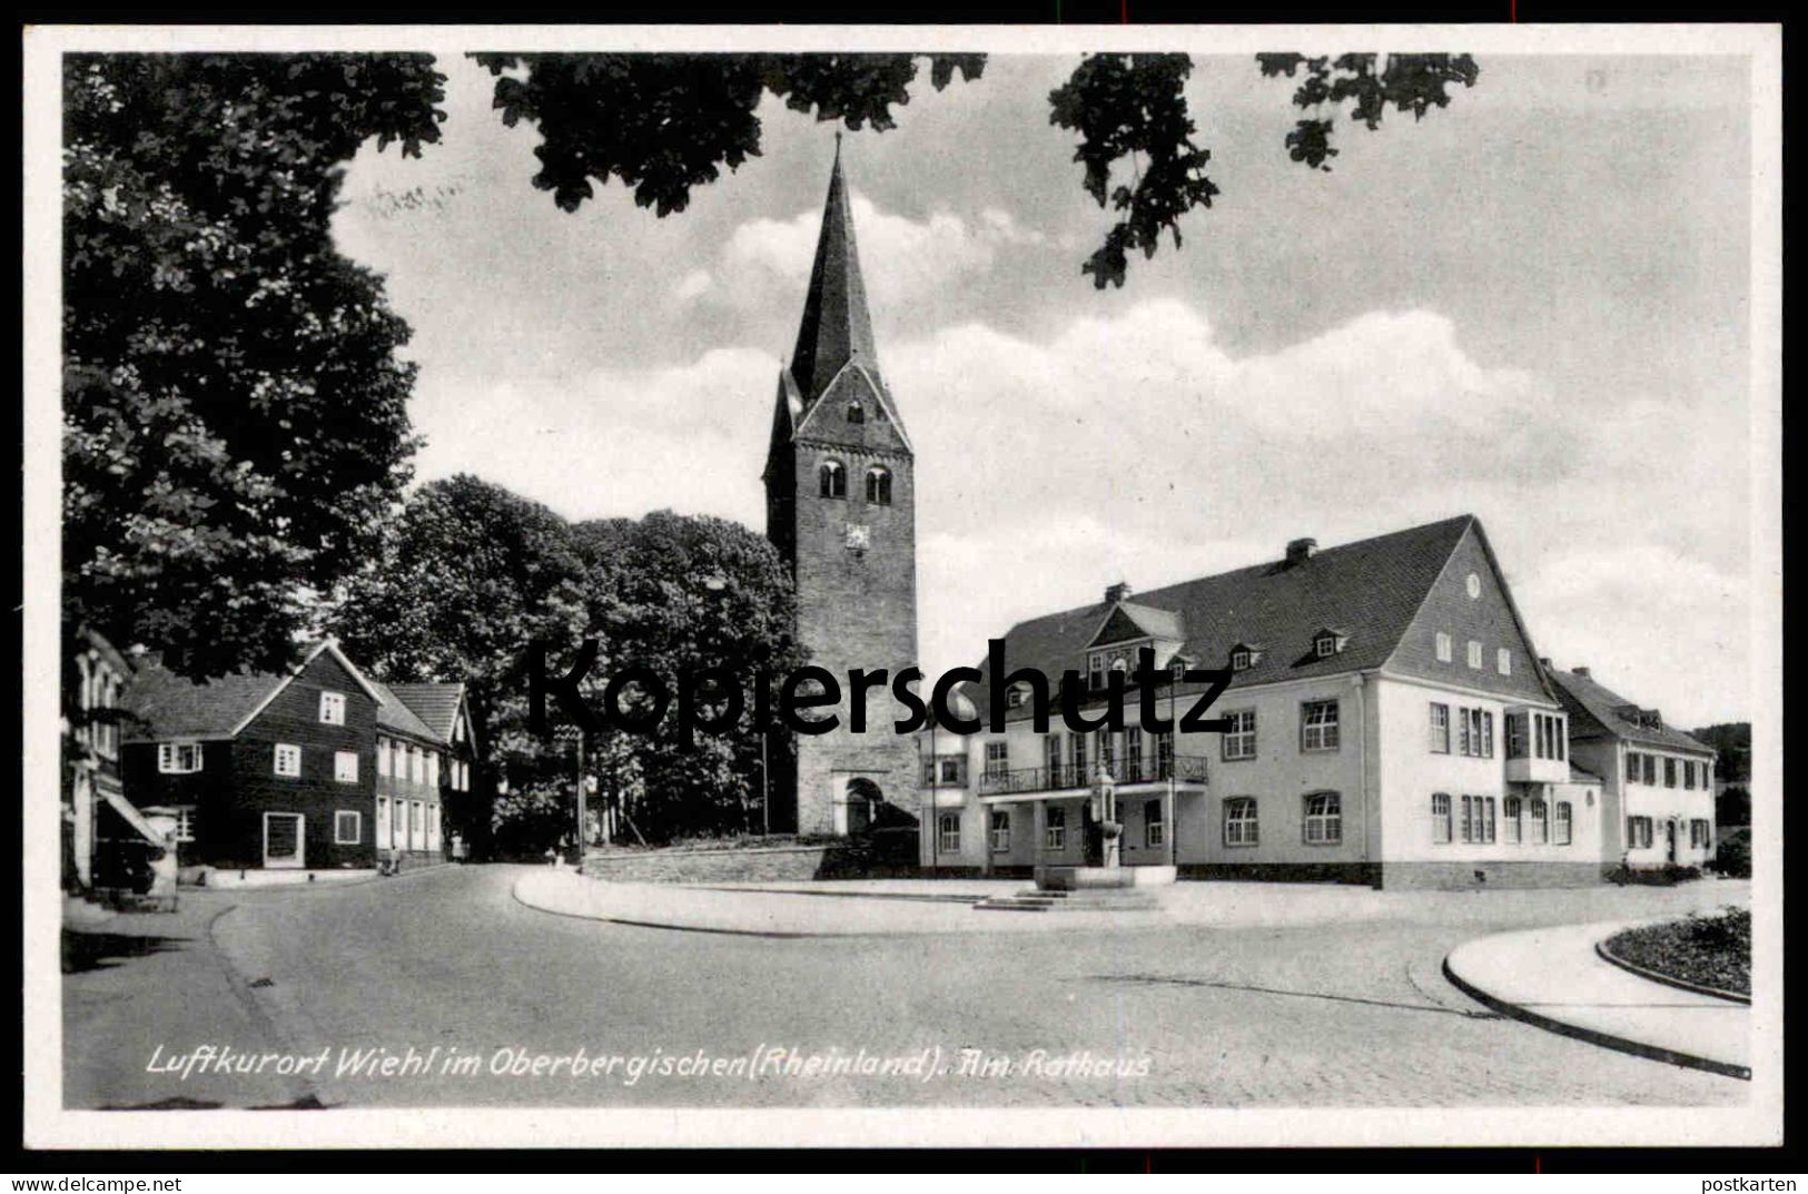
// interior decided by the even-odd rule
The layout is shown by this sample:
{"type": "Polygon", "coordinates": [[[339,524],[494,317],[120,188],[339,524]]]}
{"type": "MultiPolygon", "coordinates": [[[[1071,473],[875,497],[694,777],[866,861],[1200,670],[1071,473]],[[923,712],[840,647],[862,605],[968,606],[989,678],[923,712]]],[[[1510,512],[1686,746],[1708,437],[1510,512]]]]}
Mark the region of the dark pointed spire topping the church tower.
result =
{"type": "Polygon", "coordinates": [[[803,391],[805,405],[823,396],[841,367],[857,360],[877,380],[879,353],[873,324],[866,313],[866,284],[861,257],[853,248],[853,212],[848,183],[841,174],[841,134],[835,134],[835,166],[828,175],[828,201],[823,206],[823,232],[815,241],[815,266],[810,293],[803,304],[803,326],[792,353],[792,378],[803,391]]]}

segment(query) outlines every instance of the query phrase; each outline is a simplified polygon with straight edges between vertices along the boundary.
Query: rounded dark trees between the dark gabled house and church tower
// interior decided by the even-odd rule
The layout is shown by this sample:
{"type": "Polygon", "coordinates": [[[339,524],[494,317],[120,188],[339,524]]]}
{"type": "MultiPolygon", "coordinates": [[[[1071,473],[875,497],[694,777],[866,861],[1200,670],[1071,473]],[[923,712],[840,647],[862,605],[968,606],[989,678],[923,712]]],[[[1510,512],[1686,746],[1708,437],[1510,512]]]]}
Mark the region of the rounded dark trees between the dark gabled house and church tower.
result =
{"type": "MultiPolygon", "coordinates": [[[[718,517],[566,523],[546,507],[472,476],[428,481],[389,523],[380,554],[338,592],[329,630],[385,680],[459,677],[506,772],[497,841],[530,854],[575,778],[575,736],[528,727],[528,644],[562,671],[586,637],[598,659],[580,689],[602,707],[627,664],[678,677],[725,669],[752,711],[759,673],[797,666],[790,575],[772,545],[718,517]]],[[[640,702],[636,687],[624,706],[640,702]]],[[[557,709],[548,709],[557,715],[557,709]]],[[[759,736],[749,727],[678,740],[676,707],[653,734],[606,731],[586,742],[604,794],[627,794],[651,838],[749,829],[758,809],[759,736]]],[[[488,776],[495,778],[495,776],[488,776]]]]}

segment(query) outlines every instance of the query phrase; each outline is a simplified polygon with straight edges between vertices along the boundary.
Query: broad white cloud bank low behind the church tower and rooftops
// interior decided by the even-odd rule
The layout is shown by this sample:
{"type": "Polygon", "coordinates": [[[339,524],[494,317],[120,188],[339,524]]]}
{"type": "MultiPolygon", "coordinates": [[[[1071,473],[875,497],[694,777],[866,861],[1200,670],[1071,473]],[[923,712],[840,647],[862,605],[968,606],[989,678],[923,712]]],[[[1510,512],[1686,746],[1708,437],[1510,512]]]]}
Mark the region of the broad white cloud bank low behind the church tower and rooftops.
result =
{"type": "MultiPolygon", "coordinates": [[[[917,445],[931,671],[1117,579],[1148,590],[1296,535],[1474,512],[1540,649],[1676,718],[1748,713],[1747,593],[1728,579],[1743,550],[1725,546],[1743,539],[1727,534],[1743,526],[1725,479],[1737,420],[1642,402],[1578,414],[1427,311],[1237,355],[1193,308],[1154,300],[1047,340],[946,327],[888,346],[884,367],[917,445]]],[[[776,376],[750,349],[490,393],[428,371],[421,470],[470,469],[573,517],[673,507],[761,528],[776,376]]]]}

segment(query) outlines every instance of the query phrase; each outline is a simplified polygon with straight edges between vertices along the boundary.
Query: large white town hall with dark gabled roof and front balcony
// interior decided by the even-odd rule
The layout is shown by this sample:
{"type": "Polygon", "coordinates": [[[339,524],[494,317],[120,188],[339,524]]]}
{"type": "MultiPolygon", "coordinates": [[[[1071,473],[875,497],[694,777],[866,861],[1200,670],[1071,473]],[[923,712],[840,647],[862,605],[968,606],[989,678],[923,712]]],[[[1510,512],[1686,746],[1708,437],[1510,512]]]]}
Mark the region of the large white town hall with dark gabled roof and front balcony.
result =
{"type": "MultiPolygon", "coordinates": [[[[1374,886],[1598,883],[1616,861],[1602,776],[1569,756],[1569,711],[1531,644],[1481,521],[1452,517],[1182,584],[1103,599],[1005,635],[1005,675],[967,689],[1003,733],[920,738],[920,863],[1025,876],[1078,865],[1108,774],[1123,861],[1199,879],[1374,886]],[[1125,675],[1125,729],[1032,724],[1018,669],[1067,671],[1088,720],[1112,673],[1155,655],[1155,707],[1184,715],[1229,669],[1208,716],[1226,733],[1150,734],[1125,675]]],[[[1618,805],[1618,801],[1615,801],[1618,805]]]]}

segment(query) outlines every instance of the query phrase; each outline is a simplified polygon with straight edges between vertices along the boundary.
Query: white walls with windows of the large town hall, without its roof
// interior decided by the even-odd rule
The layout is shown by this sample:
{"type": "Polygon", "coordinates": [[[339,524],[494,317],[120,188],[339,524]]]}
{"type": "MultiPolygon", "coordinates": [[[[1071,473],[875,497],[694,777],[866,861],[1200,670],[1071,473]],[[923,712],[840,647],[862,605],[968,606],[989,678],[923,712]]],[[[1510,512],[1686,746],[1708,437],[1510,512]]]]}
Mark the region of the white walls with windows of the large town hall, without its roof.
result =
{"type": "MultiPolygon", "coordinates": [[[[1126,725],[1135,725],[1134,696],[1126,704],[1126,725]]],[[[1190,704],[1181,696],[1179,711],[1190,704]]],[[[1166,698],[1157,702],[1163,716],[1168,707],[1166,698]]],[[[1246,738],[1182,733],[1175,762],[1166,765],[1154,734],[1092,731],[1083,734],[1081,771],[1074,734],[1061,725],[1058,709],[1050,709],[1047,734],[1034,733],[1029,720],[1007,724],[1002,734],[924,731],[922,760],[933,738],[940,762],[937,782],[931,785],[924,771],[918,789],[920,861],[978,872],[1083,861],[1090,787],[1074,778],[1096,774],[1103,744],[1110,742],[1126,865],[1173,863],[1201,874],[1251,868],[1276,877],[1361,877],[1372,874],[1374,863],[1428,874],[1445,865],[1464,879],[1477,868],[1504,872],[1522,863],[1571,863],[1577,876],[1598,872],[1600,783],[1571,783],[1568,760],[1537,758],[1537,744],[1530,744],[1526,758],[1508,758],[1510,715],[1553,718],[1568,753],[1564,713],[1555,702],[1506,700],[1380,669],[1233,687],[1210,715],[1238,715],[1244,727],[1242,715],[1249,713],[1253,756],[1246,738]],[[1322,733],[1307,738],[1305,707],[1318,702],[1336,706],[1334,747],[1325,747],[1322,733]],[[1434,704],[1448,709],[1448,751],[1436,749],[1434,704]],[[1486,727],[1470,753],[1463,751],[1459,716],[1486,727]],[[1058,760],[1052,772],[1050,742],[1058,760]],[[1448,825],[1434,812],[1437,796],[1450,801],[1448,825]],[[1472,810],[1468,832],[1464,798],[1472,810]],[[1253,832],[1251,805],[1244,801],[1253,801],[1253,832]],[[1510,801],[1517,801],[1517,832],[1508,825],[1515,807],[1510,801]],[[1065,832],[1050,836],[1050,820],[1061,820],[1065,832]],[[1154,830],[1152,820],[1159,825],[1154,830]]]]}

